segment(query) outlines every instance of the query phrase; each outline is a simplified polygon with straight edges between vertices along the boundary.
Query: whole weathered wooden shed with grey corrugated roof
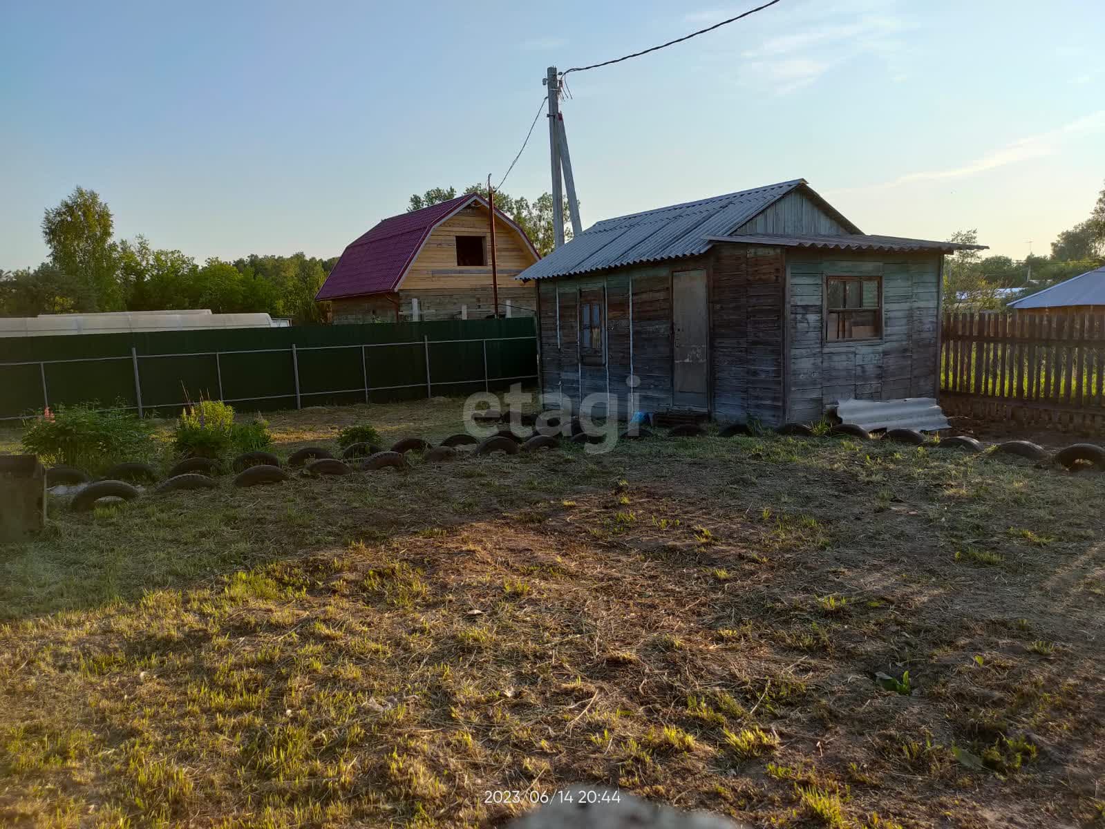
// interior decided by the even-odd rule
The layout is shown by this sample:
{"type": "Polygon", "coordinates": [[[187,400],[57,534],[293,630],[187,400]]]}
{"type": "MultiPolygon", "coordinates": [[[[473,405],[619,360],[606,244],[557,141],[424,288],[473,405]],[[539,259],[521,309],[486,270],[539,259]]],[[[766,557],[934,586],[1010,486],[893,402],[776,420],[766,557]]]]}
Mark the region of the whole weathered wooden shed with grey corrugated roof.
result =
{"type": "Polygon", "coordinates": [[[950,242],[869,235],[803,179],[600,221],[523,271],[541,386],[765,426],[935,397],[950,242]]]}

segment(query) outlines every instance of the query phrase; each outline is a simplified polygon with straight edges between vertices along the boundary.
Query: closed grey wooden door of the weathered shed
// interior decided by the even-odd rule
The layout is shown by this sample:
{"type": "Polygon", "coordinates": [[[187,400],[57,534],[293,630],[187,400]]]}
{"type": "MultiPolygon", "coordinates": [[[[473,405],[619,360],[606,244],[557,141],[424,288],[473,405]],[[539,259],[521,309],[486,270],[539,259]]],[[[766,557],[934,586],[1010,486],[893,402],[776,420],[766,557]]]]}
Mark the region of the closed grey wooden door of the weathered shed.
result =
{"type": "Polygon", "coordinates": [[[680,409],[709,405],[709,306],[705,271],[672,274],[672,403],[680,409]]]}

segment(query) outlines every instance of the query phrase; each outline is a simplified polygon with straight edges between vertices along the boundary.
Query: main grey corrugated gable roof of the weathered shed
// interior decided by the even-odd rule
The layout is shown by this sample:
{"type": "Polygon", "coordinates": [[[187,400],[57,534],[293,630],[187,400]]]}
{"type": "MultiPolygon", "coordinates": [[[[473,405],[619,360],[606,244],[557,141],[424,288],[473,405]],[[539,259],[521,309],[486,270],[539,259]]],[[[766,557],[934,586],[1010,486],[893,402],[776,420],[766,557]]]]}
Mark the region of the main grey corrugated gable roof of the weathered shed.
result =
{"type": "Polygon", "coordinates": [[[799,187],[845,227],[859,232],[859,228],[810,190],[804,179],[794,179],[596,222],[568,244],[527,267],[517,279],[567,276],[693,256],[711,246],[708,237],[732,233],[799,187]]]}

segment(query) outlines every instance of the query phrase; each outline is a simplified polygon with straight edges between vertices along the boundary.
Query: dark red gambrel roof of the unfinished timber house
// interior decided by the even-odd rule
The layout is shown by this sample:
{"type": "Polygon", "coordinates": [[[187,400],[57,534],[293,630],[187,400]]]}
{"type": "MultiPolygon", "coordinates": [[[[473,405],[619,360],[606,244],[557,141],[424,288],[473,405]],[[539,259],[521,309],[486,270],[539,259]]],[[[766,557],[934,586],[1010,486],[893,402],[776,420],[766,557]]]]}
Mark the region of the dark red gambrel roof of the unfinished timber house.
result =
{"type": "MultiPolygon", "coordinates": [[[[473,203],[487,207],[484,197],[466,193],[385,219],[345,249],[315,300],[337,300],[343,296],[394,291],[433,229],[473,203]]],[[[495,208],[495,214],[522,237],[536,259],[540,259],[522,228],[498,208],[495,208]]]]}

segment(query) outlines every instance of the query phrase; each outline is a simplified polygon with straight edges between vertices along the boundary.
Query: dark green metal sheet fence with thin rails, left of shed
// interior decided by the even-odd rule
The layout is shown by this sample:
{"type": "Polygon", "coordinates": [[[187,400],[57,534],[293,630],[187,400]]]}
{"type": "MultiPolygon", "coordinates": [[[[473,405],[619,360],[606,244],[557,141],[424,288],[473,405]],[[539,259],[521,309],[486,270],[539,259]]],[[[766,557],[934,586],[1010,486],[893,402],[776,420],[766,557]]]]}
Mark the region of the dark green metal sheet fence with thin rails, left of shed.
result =
{"type": "Polygon", "coordinates": [[[59,403],[175,414],[466,395],[537,376],[530,317],[0,338],[0,420],[59,403]]]}

